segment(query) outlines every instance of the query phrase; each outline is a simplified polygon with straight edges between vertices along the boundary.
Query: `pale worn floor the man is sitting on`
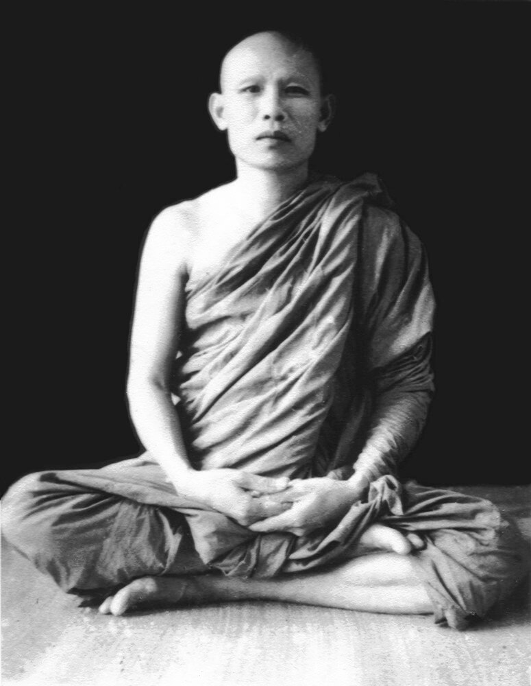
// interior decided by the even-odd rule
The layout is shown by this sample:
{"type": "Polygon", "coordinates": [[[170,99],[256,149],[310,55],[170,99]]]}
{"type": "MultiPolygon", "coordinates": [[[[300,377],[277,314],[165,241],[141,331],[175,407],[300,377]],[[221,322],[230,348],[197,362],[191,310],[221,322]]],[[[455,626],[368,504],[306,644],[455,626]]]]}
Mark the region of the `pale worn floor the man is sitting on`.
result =
{"type": "MultiPolygon", "coordinates": [[[[531,536],[522,486],[489,497],[531,536]]],[[[3,686],[529,686],[528,584],[466,632],[280,603],[108,617],[3,547],[3,686]]]]}

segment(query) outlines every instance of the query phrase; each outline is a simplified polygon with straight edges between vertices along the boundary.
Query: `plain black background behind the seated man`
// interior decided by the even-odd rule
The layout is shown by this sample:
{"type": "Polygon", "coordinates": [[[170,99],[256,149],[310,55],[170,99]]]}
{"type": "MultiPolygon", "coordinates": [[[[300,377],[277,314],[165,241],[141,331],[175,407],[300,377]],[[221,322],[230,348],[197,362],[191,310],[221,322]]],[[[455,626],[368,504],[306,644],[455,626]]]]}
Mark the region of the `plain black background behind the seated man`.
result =
{"type": "Polygon", "coordinates": [[[317,36],[328,57],[338,113],[315,166],[377,171],[428,249],[437,394],[404,475],[528,481],[529,18],[519,3],[399,4],[19,18],[4,486],[138,452],[124,387],[143,235],[164,206],[232,178],[206,100],[225,50],[270,25],[317,36]]]}

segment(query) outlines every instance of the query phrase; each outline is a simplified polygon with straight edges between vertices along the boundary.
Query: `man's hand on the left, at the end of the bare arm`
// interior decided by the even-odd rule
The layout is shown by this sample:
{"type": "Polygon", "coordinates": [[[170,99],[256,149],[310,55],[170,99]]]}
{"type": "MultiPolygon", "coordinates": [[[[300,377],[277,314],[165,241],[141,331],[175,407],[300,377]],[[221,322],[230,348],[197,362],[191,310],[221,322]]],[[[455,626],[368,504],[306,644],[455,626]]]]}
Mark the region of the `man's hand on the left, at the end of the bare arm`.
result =
{"type": "Polygon", "coordinates": [[[291,508],[291,502],[270,495],[287,488],[287,477],[273,479],[239,469],[206,469],[188,471],[173,484],[180,495],[226,514],[243,526],[291,508]]]}

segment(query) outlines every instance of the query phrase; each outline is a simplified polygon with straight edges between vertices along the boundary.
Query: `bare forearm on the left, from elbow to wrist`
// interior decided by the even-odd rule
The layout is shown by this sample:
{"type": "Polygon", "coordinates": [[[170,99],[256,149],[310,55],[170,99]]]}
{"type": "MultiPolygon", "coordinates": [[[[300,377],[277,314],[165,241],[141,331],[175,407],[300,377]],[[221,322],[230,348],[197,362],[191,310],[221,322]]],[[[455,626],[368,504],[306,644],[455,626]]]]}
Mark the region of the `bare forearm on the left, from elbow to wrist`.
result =
{"type": "Polygon", "coordinates": [[[129,381],[127,397],[140,441],[177,485],[193,468],[169,390],[154,381],[129,381]]]}

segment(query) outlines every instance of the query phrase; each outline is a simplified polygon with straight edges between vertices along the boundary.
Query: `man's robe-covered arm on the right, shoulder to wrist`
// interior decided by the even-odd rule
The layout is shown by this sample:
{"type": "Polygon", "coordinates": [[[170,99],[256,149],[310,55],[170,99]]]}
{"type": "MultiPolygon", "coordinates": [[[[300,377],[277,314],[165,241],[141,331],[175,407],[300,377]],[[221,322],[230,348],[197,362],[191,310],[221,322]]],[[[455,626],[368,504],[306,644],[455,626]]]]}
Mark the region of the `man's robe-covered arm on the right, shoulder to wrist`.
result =
{"type": "Polygon", "coordinates": [[[372,407],[352,462],[353,478],[372,482],[396,471],[425,423],[435,305],[419,239],[394,213],[369,207],[366,221],[356,335],[372,407]]]}

